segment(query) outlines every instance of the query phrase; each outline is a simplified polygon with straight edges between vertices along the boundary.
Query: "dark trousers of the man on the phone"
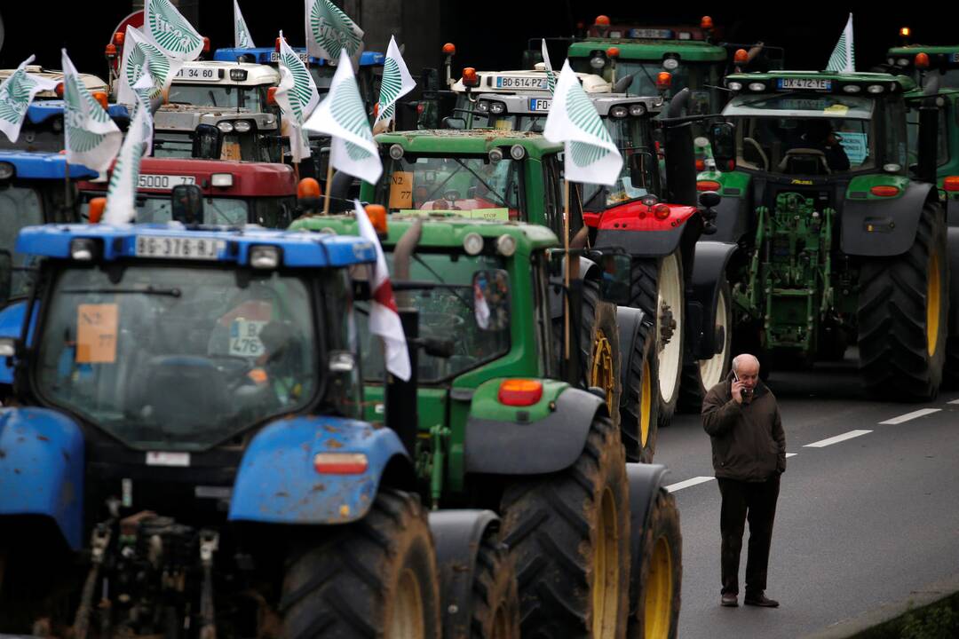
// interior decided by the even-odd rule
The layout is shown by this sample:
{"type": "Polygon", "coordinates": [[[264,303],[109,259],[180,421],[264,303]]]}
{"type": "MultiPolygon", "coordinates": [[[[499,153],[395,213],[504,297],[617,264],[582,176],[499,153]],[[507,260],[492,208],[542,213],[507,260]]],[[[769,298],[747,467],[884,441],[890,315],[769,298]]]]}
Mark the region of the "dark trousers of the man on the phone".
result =
{"type": "Polygon", "coordinates": [[[779,474],[764,482],[716,479],[722,494],[719,531],[722,535],[722,594],[739,593],[739,554],[746,520],[749,520],[749,557],[746,559],[746,597],[766,589],[769,544],[779,497],[779,474]]]}

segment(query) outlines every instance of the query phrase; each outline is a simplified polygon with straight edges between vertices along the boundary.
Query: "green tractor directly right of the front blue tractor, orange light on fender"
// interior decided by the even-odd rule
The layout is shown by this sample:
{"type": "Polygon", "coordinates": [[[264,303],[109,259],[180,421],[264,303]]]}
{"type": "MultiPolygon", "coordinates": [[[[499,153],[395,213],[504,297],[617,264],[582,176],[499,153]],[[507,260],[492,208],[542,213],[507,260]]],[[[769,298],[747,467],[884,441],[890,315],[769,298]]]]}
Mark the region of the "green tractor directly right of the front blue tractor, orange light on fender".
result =
{"type": "MultiPolygon", "coordinates": [[[[415,447],[421,493],[433,509],[500,513],[525,635],[620,637],[628,627],[631,637],[675,636],[681,544],[666,468],[626,464],[618,406],[576,388],[579,349],[566,350],[554,321],[562,296],[582,285],[562,285],[563,259],[582,252],[559,249],[539,225],[404,211],[381,238],[401,315],[419,318],[406,327],[418,335],[419,385],[401,437],[415,447]]],[[[292,229],[355,235],[357,223],[314,215],[292,229]]],[[[609,296],[628,290],[625,256],[586,255],[604,263],[609,296]]],[[[570,308],[573,327],[588,324],[570,308]]],[[[377,421],[394,399],[380,349],[369,346],[364,407],[377,421]]]]}

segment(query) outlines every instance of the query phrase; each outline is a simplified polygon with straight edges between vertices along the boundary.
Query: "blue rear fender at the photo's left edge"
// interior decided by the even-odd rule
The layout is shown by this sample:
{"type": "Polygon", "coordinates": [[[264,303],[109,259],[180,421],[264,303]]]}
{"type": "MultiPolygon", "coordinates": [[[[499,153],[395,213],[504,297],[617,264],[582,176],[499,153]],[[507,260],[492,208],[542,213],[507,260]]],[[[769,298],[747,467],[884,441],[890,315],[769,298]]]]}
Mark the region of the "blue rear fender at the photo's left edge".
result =
{"type": "Polygon", "coordinates": [[[80,550],[84,454],[80,425],[65,415],[0,409],[0,517],[50,517],[66,544],[80,550]]]}

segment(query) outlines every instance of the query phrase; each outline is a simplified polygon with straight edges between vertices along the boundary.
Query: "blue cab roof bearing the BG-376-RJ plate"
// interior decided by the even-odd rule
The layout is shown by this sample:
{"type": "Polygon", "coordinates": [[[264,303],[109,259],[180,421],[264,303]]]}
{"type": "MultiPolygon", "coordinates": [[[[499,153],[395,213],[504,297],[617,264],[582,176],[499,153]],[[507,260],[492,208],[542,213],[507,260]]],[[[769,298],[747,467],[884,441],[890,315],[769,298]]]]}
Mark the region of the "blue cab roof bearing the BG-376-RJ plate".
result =
{"type": "MultiPolygon", "coordinates": [[[[336,237],[330,234],[307,234],[265,229],[259,226],[228,228],[205,226],[186,228],[177,222],[168,224],[45,224],[27,226],[16,239],[17,252],[69,259],[72,240],[89,239],[99,243],[102,260],[137,259],[138,239],[207,240],[216,242],[217,257],[204,262],[231,262],[246,265],[252,246],[276,246],[284,266],[309,268],[349,266],[375,262],[373,244],[362,238],[336,237]]],[[[151,258],[155,260],[156,258],[151,258]]],[[[197,262],[196,258],[170,262],[197,262]]]]}

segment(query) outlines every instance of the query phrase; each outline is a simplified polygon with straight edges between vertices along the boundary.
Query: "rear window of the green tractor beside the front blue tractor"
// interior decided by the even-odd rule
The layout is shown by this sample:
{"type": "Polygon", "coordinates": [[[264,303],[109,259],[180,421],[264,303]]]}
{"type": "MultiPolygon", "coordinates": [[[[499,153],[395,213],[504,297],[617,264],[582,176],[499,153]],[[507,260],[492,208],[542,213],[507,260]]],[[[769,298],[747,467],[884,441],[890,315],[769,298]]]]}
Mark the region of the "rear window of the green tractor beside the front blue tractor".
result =
{"type": "MultiPolygon", "coordinates": [[[[393,272],[393,254],[386,254],[389,271],[393,272]]],[[[467,256],[460,253],[417,253],[409,265],[409,278],[413,282],[442,285],[424,285],[413,290],[396,290],[396,303],[400,308],[416,308],[419,311],[419,334],[439,340],[449,340],[453,355],[437,357],[419,352],[419,380],[438,382],[477,368],[481,364],[509,351],[509,327],[490,331],[480,327],[482,313],[476,312],[473,290],[473,274],[479,270],[503,268],[503,259],[493,256],[467,256]]],[[[400,283],[394,283],[400,288],[400,283]]],[[[503,291],[508,295],[508,290],[503,291]]],[[[365,303],[357,306],[366,310],[365,303]]],[[[361,312],[362,335],[369,335],[366,328],[367,314],[361,312]]],[[[487,325],[489,320],[487,318],[487,325]]],[[[363,345],[363,375],[368,381],[384,379],[383,348],[379,344],[363,345]]]]}

